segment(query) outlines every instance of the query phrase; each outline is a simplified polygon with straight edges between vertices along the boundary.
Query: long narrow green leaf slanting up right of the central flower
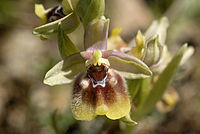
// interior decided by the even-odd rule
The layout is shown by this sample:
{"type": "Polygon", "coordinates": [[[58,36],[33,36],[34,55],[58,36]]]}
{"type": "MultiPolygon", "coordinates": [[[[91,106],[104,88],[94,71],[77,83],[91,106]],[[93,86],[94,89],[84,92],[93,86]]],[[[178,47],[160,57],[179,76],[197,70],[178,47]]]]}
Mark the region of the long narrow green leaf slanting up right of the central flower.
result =
{"type": "Polygon", "coordinates": [[[135,120],[139,120],[143,115],[149,113],[159,101],[169,86],[173,75],[175,74],[181,59],[184,55],[184,52],[187,49],[187,44],[185,44],[178,53],[173,57],[171,62],[167,65],[165,70],[161,73],[159,76],[159,79],[154,84],[153,88],[151,89],[149,95],[144,100],[144,103],[142,103],[137,109],[136,112],[132,115],[132,117],[135,120]]]}

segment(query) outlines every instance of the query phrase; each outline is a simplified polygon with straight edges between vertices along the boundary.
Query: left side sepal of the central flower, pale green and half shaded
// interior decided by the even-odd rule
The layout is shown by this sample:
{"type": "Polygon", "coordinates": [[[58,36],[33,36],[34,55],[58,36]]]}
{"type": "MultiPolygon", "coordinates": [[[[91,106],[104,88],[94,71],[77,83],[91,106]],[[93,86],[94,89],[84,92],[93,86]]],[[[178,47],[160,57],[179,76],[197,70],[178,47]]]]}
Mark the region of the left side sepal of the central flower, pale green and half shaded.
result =
{"type": "Polygon", "coordinates": [[[50,69],[44,78],[44,83],[50,86],[69,84],[75,76],[85,70],[85,60],[79,53],[68,56],[50,69]]]}

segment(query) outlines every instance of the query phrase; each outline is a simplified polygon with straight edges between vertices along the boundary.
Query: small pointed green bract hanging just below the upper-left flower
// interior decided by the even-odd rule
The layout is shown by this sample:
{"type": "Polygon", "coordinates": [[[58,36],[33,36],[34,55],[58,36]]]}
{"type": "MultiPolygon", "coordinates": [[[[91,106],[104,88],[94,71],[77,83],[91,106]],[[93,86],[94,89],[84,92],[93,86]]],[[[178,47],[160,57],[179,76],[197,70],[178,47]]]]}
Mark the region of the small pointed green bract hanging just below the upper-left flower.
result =
{"type": "Polygon", "coordinates": [[[63,31],[61,24],[58,26],[58,48],[62,58],[79,52],[78,48],[63,31]]]}

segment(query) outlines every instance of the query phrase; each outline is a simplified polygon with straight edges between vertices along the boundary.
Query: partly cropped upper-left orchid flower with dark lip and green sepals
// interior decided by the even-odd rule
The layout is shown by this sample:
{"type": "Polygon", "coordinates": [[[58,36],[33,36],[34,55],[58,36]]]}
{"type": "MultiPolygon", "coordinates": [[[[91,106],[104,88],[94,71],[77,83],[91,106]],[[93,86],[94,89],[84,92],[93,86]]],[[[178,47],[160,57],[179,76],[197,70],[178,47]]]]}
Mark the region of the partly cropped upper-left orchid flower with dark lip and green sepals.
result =
{"type": "Polygon", "coordinates": [[[77,0],[63,0],[62,5],[45,9],[42,4],[35,4],[35,14],[41,19],[41,26],[33,30],[33,34],[48,39],[57,35],[61,24],[66,33],[73,32],[79,26],[79,18],[74,11],[77,0]]]}

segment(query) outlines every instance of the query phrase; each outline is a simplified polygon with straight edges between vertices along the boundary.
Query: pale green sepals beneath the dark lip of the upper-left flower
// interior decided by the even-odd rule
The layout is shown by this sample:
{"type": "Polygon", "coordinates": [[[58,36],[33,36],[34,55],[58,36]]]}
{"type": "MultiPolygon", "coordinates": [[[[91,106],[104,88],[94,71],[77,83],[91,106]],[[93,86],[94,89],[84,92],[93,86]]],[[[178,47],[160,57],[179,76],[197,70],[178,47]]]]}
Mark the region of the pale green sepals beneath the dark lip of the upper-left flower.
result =
{"type": "Polygon", "coordinates": [[[46,39],[54,37],[58,32],[58,24],[61,24],[62,29],[68,34],[79,26],[79,20],[72,12],[59,20],[36,27],[33,34],[46,39]]]}

